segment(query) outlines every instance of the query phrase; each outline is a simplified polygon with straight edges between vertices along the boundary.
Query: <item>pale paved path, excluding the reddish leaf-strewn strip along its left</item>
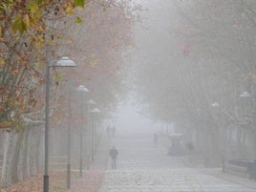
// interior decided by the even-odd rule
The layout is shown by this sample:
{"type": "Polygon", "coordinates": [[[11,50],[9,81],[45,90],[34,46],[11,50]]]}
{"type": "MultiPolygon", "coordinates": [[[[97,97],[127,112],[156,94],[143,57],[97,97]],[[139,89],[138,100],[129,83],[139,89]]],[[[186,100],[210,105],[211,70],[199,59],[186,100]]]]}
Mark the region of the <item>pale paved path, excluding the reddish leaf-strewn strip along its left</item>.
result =
{"type": "Polygon", "coordinates": [[[112,139],[118,149],[117,170],[110,160],[99,192],[252,192],[186,167],[181,158],[167,156],[166,143],[154,146],[153,135],[112,139]]]}

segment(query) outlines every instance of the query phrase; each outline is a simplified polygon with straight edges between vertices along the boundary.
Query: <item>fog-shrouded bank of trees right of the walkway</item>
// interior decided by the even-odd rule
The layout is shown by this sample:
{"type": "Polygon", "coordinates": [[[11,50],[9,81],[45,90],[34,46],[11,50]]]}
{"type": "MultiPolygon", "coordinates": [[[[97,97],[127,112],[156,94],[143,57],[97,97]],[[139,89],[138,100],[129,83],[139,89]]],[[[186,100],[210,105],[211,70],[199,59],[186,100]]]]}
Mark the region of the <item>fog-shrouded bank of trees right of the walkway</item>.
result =
{"type": "Polygon", "coordinates": [[[175,122],[209,165],[224,154],[256,160],[256,2],[161,1],[149,10],[138,57],[151,56],[136,82],[144,113],[175,122]]]}

